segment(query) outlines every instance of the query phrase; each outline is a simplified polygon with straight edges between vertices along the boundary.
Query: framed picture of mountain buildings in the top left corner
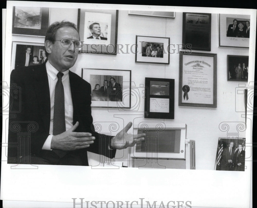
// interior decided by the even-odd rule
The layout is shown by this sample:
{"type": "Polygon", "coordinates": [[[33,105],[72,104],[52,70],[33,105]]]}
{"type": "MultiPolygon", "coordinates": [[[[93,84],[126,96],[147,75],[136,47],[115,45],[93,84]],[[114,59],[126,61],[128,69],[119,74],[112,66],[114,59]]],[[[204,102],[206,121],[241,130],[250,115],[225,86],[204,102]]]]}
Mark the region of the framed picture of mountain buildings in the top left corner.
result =
{"type": "Polygon", "coordinates": [[[50,8],[47,7],[13,7],[13,35],[44,37],[50,20],[50,8]]]}

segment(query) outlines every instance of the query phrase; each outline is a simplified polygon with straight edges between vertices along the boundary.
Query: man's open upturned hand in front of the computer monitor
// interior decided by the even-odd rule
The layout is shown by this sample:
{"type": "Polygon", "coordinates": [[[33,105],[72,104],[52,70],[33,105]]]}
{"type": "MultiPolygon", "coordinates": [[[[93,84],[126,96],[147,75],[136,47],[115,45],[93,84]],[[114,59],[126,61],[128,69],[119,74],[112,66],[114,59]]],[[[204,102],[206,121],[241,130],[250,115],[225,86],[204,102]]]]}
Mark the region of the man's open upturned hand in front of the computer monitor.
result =
{"type": "Polygon", "coordinates": [[[131,128],[132,122],[129,122],[123,130],[121,130],[115,137],[112,138],[112,149],[124,149],[132,147],[136,143],[144,140],[145,134],[128,134],[127,131],[131,128]]]}

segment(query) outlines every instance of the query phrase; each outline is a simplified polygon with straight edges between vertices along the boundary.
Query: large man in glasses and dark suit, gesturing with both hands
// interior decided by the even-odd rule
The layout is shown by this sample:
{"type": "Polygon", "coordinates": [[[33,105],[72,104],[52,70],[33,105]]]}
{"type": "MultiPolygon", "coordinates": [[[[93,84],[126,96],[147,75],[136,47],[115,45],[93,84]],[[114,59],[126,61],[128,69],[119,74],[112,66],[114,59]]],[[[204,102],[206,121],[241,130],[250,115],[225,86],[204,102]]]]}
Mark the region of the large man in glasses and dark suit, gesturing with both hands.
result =
{"type": "Polygon", "coordinates": [[[45,36],[48,61],[12,71],[21,95],[10,104],[8,163],[88,166],[87,151],[113,158],[144,140],[127,134],[131,122],[115,137],[95,132],[90,84],[69,71],[78,57],[72,41],[79,41],[75,24],[55,22],[45,36]]]}

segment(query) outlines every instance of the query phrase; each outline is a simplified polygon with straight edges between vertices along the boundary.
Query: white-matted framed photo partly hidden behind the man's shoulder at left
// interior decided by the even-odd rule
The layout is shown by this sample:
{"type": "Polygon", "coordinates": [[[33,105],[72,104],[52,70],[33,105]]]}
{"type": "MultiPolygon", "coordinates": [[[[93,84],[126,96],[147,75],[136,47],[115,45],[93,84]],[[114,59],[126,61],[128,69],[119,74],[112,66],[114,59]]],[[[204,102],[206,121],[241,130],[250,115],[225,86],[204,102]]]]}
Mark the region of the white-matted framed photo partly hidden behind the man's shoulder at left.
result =
{"type": "MultiPolygon", "coordinates": [[[[11,69],[17,69],[24,66],[30,66],[33,63],[33,57],[39,60],[40,52],[44,50],[44,43],[30,42],[12,42],[11,69]]],[[[34,64],[35,65],[35,64],[34,64]]]]}

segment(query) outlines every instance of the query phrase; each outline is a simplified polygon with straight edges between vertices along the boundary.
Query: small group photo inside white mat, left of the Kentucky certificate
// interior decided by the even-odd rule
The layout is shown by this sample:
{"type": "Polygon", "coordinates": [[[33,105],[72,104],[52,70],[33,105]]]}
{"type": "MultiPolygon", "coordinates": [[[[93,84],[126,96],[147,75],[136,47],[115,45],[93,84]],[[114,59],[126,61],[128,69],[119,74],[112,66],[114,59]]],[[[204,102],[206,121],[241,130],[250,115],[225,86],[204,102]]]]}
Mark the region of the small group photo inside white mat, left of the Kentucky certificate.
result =
{"type": "Polygon", "coordinates": [[[142,56],[163,58],[163,43],[142,42],[142,56]]]}

